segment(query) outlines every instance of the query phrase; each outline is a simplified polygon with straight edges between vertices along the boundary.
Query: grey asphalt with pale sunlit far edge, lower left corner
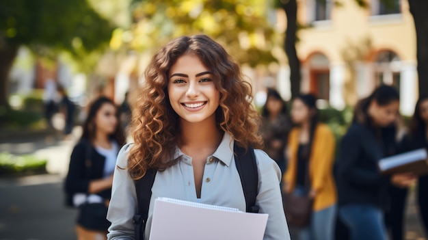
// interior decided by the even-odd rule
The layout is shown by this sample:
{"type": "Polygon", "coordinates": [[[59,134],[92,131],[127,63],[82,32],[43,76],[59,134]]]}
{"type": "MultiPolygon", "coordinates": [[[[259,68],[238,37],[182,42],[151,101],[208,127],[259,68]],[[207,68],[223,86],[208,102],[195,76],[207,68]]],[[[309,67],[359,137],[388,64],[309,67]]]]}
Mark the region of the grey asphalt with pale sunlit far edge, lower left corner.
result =
{"type": "Polygon", "coordinates": [[[0,179],[0,239],[73,240],[76,211],[63,204],[62,177],[0,179]]]}

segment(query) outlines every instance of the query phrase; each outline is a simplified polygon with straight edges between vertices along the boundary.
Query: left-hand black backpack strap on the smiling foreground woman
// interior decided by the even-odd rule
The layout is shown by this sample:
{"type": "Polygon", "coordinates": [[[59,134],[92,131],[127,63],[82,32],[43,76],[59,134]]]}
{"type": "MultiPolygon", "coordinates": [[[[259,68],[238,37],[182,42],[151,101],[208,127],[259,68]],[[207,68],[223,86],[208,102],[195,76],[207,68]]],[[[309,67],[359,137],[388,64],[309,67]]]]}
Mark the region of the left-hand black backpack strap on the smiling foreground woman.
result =
{"type": "Polygon", "coordinates": [[[148,208],[152,197],[152,186],[155,182],[156,170],[149,168],[146,174],[134,181],[135,192],[137,193],[138,212],[134,215],[135,240],[144,239],[144,231],[148,218],[148,208]]]}

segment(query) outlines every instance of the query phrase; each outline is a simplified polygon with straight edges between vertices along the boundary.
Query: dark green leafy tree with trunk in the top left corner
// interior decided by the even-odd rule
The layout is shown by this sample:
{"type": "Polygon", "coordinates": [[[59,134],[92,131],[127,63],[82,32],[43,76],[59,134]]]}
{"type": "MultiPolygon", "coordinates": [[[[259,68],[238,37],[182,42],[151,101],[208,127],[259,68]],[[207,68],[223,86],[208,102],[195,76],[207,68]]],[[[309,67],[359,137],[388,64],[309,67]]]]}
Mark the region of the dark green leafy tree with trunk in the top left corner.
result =
{"type": "Polygon", "coordinates": [[[6,79],[19,46],[79,58],[106,44],[112,30],[86,0],[0,1],[0,106],[7,105],[6,79]]]}

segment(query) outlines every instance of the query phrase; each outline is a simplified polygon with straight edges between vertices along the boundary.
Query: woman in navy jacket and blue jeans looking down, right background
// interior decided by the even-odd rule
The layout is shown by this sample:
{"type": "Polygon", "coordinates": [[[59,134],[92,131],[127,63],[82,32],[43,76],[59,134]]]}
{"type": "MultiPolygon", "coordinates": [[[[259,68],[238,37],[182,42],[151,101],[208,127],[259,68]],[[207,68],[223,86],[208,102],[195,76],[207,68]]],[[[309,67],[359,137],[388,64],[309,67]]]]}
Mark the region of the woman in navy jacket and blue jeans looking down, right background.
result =
{"type": "MultiPolygon", "coordinates": [[[[377,162],[397,153],[394,122],[398,112],[397,90],[380,86],[358,103],[352,124],[340,144],[339,215],[349,228],[351,240],[388,239],[384,208],[388,204],[390,178],[379,174],[377,162]]],[[[399,182],[407,184],[402,180],[399,182]]]]}

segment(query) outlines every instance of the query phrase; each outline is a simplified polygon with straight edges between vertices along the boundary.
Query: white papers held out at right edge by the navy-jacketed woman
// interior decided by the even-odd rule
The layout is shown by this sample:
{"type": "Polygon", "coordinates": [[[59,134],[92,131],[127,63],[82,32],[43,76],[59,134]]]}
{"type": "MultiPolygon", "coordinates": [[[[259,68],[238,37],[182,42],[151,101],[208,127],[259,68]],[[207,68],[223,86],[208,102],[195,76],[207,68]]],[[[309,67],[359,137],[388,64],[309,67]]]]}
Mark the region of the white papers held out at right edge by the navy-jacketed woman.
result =
{"type": "Polygon", "coordinates": [[[379,169],[385,171],[422,159],[427,159],[427,150],[425,148],[420,148],[418,150],[413,150],[381,159],[379,161],[379,169]]]}

